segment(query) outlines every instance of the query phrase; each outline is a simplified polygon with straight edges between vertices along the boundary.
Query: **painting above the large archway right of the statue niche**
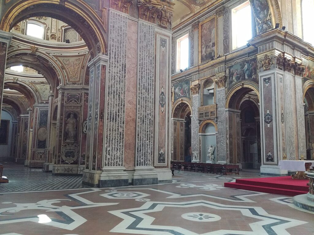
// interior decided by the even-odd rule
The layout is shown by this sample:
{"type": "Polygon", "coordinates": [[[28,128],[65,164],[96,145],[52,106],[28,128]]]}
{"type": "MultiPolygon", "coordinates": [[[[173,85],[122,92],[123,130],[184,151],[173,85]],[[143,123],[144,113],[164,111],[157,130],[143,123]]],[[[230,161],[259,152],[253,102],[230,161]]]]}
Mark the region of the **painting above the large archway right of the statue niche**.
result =
{"type": "Polygon", "coordinates": [[[228,89],[241,81],[257,81],[257,59],[249,59],[232,65],[228,69],[228,89]]]}

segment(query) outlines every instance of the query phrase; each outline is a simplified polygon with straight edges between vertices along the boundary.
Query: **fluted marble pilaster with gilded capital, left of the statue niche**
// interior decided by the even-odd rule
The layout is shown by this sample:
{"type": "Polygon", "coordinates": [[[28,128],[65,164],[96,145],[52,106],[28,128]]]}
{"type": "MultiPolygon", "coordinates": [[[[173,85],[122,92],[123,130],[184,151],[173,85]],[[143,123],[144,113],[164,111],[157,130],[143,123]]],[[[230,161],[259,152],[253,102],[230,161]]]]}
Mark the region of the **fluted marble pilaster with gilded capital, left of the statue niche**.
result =
{"type": "Polygon", "coordinates": [[[191,86],[192,95],[192,115],[191,115],[191,149],[192,162],[201,162],[199,155],[199,137],[198,137],[198,107],[200,106],[199,98],[200,84],[196,83],[191,86]]]}

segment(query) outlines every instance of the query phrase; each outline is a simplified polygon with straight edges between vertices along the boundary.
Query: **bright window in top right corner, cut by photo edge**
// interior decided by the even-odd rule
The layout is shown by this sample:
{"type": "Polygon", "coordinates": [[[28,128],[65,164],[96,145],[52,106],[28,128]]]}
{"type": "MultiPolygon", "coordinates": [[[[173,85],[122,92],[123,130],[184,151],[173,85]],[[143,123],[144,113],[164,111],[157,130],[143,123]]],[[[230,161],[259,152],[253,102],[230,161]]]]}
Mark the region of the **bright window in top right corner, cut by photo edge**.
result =
{"type": "Polygon", "coordinates": [[[302,1],[302,28],[303,28],[303,39],[304,41],[314,45],[314,31],[312,25],[314,11],[314,1],[313,0],[303,0],[302,1]]]}

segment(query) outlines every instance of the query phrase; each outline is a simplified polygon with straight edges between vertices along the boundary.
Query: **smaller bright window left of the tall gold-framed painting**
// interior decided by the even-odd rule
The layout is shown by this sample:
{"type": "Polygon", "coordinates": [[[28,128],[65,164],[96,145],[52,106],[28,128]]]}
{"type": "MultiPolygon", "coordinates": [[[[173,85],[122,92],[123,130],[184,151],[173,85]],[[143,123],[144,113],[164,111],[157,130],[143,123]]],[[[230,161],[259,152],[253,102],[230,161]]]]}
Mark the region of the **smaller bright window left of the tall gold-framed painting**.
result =
{"type": "Polygon", "coordinates": [[[176,70],[187,69],[189,66],[189,34],[177,39],[176,70]]]}

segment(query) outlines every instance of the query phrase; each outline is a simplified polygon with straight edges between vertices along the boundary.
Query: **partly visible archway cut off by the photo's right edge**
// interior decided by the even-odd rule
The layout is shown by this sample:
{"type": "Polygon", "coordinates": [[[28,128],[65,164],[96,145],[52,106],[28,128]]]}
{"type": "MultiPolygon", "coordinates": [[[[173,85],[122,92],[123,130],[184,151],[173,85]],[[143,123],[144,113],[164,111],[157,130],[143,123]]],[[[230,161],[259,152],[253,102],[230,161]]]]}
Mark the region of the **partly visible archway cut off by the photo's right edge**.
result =
{"type": "Polygon", "coordinates": [[[304,118],[306,137],[306,159],[314,157],[314,81],[304,84],[304,118]]]}

